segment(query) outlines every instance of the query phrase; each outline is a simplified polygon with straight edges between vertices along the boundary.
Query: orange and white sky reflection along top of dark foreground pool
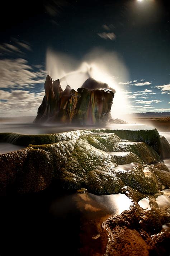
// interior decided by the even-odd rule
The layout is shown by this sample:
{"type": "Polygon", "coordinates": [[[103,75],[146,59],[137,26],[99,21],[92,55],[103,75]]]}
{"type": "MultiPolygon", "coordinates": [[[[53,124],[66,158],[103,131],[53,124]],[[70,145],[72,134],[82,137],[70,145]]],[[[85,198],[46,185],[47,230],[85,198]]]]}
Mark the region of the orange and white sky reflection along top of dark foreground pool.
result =
{"type": "Polygon", "coordinates": [[[68,211],[80,211],[91,217],[95,212],[97,216],[117,216],[132,205],[131,199],[125,194],[111,194],[97,196],[91,193],[75,193],[63,196],[53,201],[50,212],[53,215],[65,215],[68,211]]]}

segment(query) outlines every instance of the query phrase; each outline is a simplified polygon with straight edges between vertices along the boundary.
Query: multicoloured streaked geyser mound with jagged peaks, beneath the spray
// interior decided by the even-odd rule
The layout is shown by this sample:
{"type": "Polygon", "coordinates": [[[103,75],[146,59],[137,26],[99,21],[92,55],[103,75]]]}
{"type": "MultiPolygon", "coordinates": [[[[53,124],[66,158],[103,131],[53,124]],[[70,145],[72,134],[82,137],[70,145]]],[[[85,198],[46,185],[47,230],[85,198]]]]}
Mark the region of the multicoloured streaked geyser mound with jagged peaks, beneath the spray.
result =
{"type": "Polygon", "coordinates": [[[76,123],[77,125],[103,124],[112,119],[110,110],[115,90],[108,84],[89,77],[80,88],[63,91],[60,80],[46,77],[45,96],[34,122],[76,123]]]}

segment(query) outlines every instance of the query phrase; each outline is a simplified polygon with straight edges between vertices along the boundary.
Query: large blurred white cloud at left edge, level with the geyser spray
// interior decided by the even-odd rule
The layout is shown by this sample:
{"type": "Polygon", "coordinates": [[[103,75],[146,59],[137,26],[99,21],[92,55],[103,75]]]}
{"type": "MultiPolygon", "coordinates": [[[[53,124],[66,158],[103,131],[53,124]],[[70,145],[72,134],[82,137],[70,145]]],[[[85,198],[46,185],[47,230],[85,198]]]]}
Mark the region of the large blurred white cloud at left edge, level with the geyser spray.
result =
{"type": "Polygon", "coordinates": [[[44,83],[46,72],[33,71],[27,60],[2,59],[0,60],[0,87],[1,88],[25,88],[30,85],[44,83]]]}

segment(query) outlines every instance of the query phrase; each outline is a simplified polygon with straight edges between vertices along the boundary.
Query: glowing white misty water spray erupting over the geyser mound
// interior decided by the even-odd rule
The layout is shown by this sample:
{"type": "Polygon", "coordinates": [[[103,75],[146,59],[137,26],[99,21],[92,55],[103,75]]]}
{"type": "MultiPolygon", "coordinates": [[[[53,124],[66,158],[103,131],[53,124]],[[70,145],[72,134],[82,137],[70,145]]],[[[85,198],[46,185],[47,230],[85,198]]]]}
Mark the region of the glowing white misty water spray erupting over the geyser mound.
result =
{"type": "Polygon", "coordinates": [[[118,81],[127,81],[128,72],[121,58],[114,52],[101,48],[91,50],[81,60],[48,49],[46,69],[53,80],[60,79],[62,89],[69,84],[77,90],[89,76],[107,83],[116,90],[112,105],[112,117],[123,118],[128,112],[128,102],[123,94],[123,86],[118,81]],[[118,77],[118,79],[115,79],[118,77]]]}

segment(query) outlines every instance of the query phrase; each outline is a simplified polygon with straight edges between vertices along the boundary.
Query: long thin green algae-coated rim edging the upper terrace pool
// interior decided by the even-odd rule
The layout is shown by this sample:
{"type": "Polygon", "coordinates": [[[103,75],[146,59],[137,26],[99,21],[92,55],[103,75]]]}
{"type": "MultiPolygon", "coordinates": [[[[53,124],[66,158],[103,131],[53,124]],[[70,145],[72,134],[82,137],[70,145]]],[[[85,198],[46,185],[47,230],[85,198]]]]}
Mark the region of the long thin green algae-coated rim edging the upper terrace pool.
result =
{"type": "Polygon", "coordinates": [[[161,155],[161,139],[156,129],[152,129],[152,130],[91,129],[91,130],[78,130],[78,131],[71,131],[71,132],[69,131],[65,133],[40,134],[40,135],[0,133],[0,142],[9,142],[16,145],[29,145],[29,144],[42,145],[42,144],[61,142],[63,140],[70,140],[74,136],[79,136],[80,134],[84,134],[84,133],[86,134],[114,133],[120,139],[127,139],[135,142],[145,142],[150,147],[152,147],[159,154],[159,156],[161,155]]]}

